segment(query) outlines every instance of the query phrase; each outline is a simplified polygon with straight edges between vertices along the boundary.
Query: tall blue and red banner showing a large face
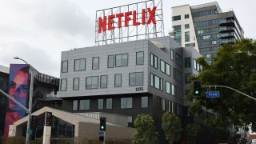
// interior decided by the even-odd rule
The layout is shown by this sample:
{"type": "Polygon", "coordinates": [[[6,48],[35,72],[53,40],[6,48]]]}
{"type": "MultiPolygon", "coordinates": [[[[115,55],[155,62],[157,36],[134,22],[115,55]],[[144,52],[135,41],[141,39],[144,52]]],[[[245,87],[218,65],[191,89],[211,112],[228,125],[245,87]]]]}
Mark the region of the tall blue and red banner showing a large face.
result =
{"type": "MultiPolygon", "coordinates": [[[[8,83],[8,94],[16,101],[26,106],[26,99],[29,90],[29,69],[30,66],[26,64],[10,64],[10,76],[8,83]]],[[[6,108],[5,120],[5,136],[8,137],[9,127],[14,122],[26,115],[26,110],[23,110],[16,103],[8,100],[6,108]]]]}

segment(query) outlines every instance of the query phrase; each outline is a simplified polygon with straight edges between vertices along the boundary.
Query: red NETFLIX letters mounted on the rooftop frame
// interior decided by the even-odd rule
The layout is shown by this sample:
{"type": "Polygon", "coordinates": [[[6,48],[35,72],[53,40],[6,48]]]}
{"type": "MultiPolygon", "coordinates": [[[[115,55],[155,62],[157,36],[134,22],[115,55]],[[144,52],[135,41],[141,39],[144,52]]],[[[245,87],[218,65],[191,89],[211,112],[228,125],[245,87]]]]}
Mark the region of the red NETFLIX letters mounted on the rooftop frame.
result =
{"type": "Polygon", "coordinates": [[[113,26],[114,24],[114,18],[118,18],[118,28],[122,27],[122,17],[125,18],[125,26],[129,26],[129,21],[133,21],[133,26],[139,26],[139,25],[145,25],[145,24],[150,24],[151,22],[153,22],[153,24],[156,24],[155,18],[154,18],[154,14],[155,14],[155,10],[157,9],[156,6],[153,7],[153,9],[151,10],[150,8],[147,8],[147,13],[149,15],[147,22],[146,22],[146,10],[142,9],[142,15],[141,15],[141,22],[138,22],[137,20],[137,12],[136,10],[134,11],[128,11],[126,13],[120,13],[120,14],[111,14],[109,15],[107,18],[106,16],[99,17],[98,18],[98,33],[102,33],[106,32],[106,30],[114,30],[116,27],[113,26]],[[132,18],[130,18],[130,16],[132,15],[132,18]],[[107,23],[106,23],[107,21],[107,23]],[[106,25],[107,25],[107,29],[106,29],[106,25]]]}

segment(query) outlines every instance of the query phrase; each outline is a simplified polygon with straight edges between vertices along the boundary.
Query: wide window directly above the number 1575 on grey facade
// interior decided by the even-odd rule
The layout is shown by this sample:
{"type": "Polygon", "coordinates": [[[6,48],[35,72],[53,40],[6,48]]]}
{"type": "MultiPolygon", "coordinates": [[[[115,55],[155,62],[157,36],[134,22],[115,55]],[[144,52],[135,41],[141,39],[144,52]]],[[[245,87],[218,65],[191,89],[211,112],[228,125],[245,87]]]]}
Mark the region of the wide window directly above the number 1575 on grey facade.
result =
{"type": "Polygon", "coordinates": [[[143,86],[143,72],[130,73],[129,86],[143,86]]]}

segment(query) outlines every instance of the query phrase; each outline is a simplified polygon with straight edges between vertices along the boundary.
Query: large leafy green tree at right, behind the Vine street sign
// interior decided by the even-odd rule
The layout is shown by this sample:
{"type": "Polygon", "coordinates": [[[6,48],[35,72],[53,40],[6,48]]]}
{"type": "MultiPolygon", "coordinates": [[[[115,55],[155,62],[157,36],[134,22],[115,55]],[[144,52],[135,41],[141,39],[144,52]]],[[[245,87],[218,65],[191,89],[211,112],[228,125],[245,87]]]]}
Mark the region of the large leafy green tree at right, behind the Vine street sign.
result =
{"type": "MultiPolygon", "coordinates": [[[[256,96],[256,42],[254,40],[242,39],[222,45],[211,65],[207,64],[205,58],[198,58],[197,62],[203,66],[203,70],[194,79],[199,80],[202,85],[230,86],[245,94],[256,96]],[[242,52],[238,53],[238,51],[242,52]]],[[[187,98],[191,101],[194,99],[190,112],[196,114],[202,110],[202,107],[206,107],[215,113],[215,117],[209,120],[211,126],[225,128],[230,123],[236,126],[251,124],[252,130],[256,131],[256,102],[232,90],[225,88],[217,90],[220,91],[220,98],[206,98],[205,93],[202,92],[200,97],[194,99],[190,89],[191,93],[187,98]]]]}

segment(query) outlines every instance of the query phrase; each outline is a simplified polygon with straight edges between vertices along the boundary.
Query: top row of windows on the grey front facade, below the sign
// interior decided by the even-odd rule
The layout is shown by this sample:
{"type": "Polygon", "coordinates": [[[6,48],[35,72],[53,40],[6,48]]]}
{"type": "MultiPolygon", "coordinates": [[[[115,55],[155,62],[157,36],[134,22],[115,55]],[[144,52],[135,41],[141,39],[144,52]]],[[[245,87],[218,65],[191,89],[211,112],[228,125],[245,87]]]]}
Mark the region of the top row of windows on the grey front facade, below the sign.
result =
{"type": "MultiPolygon", "coordinates": [[[[144,64],[144,52],[136,52],[136,65],[144,64]]],[[[108,68],[128,66],[128,54],[108,55],[108,68]]],[[[92,58],[92,70],[99,69],[99,57],[92,58]]],[[[86,70],[86,58],[74,59],[74,71],[86,70]]],[[[68,61],[62,61],[62,73],[68,71],[68,61]]]]}

